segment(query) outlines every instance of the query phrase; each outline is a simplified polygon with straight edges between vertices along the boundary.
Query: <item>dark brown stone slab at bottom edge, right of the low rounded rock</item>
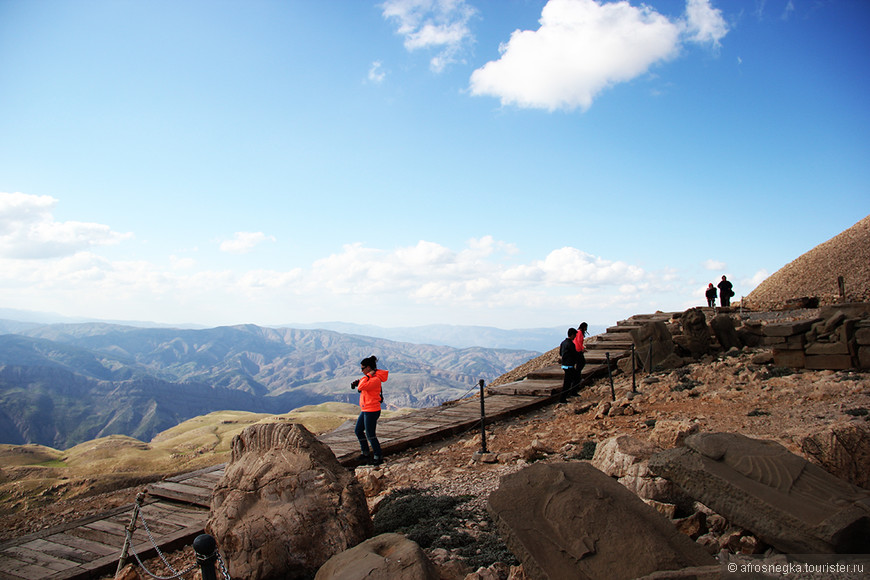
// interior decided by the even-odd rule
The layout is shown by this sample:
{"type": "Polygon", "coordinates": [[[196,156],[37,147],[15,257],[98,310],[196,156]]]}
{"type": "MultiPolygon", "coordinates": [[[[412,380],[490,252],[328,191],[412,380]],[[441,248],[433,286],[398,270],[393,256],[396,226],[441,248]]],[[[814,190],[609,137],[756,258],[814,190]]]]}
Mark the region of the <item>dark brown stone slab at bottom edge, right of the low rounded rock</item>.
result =
{"type": "Polygon", "coordinates": [[[502,477],[489,511],[530,580],[622,580],[715,564],[655,509],[585,462],[535,463],[502,477]]]}

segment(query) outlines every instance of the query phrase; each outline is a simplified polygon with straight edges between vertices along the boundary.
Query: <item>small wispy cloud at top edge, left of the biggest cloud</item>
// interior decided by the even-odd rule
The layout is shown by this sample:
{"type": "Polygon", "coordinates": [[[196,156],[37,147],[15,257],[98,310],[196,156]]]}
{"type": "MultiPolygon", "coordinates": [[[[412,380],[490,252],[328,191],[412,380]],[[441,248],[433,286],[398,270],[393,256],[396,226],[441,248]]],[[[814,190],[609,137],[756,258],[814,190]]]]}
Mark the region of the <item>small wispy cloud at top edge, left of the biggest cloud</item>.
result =
{"type": "Polygon", "coordinates": [[[387,0],[383,16],[395,22],[409,51],[432,50],[434,72],[456,62],[462,47],[473,40],[468,26],[476,10],[465,0],[387,0]]]}

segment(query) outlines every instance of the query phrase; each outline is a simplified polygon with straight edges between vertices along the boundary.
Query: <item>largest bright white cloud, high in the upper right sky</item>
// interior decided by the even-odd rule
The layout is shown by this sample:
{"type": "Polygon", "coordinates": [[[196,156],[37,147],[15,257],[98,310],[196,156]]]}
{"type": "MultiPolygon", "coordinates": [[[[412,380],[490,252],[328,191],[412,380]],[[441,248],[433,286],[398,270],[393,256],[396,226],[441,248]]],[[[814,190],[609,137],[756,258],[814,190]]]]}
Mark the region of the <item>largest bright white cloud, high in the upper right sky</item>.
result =
{"type": "Polygon", "coordinates": [[[675,58],[685,41],[718,46],[727,32],[710,0],[688,0],[672,21],[646,5],[601,0],[549,0],[537,30],[516,30],[498,60],[475,70],[473,95],[502,105],[587,110],[613,85],[675,58]]]}

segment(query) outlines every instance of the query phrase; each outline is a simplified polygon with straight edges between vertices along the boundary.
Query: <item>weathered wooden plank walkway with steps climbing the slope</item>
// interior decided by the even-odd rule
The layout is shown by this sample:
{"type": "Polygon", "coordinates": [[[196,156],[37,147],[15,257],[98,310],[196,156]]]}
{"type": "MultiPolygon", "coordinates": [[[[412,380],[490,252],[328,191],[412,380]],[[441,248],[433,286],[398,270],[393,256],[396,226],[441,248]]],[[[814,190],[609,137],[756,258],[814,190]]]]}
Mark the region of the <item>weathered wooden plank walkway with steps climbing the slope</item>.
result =
{"type": "MultiPolygon", "coordinates": [[[[649,318],[666,316],[669,315],[649,318]]],[[[627,333],[637,327],[632,322],[617,324],[590,339],[584,379],[606,376],[608,358],[613,365],[630,354],[627,333]]],[[[484,397],[487,424],[552,404],[558,400],[562,376],[556,365],[524,380],[487,388],[484,397]]],[[[390,455],[465,433],[479,425],[480,398],[474,397],[383,419],[378,423],[378,439],[384,454],[390,455]]],[[[352,427],[322,434],[319,439],[329,445],[343,465],[355,465],[359,447],[352,427]]],[[[223,472],[223,464],[215,465],[147,486],[142,519],[132,537],[133,551],[143,560],[156,555],[149,532],[160,550],[190,545],[203,533],[211,493],[223,472]]],[[[0,580],[78,580],[114,573],[133,505],[131,501],[129,506],[0,543],[0,580]]],[[[128,562],[135,562],[132,553],[128,562]]]]}

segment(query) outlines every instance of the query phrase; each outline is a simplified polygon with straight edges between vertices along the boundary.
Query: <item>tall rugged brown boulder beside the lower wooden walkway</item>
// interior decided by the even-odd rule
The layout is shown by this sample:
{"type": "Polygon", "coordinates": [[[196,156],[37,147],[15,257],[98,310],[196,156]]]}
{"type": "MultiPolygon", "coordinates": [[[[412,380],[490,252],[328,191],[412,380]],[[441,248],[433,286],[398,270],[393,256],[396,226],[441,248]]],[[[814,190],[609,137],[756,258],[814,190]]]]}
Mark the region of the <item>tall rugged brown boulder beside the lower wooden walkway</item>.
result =
{"type": "Polygon", "coordinates": [[[293,423],[251,425],[212,496],[206,529],[230,575],[310,577],[372,533],[362,487],[325,444],[293,423]]]}

